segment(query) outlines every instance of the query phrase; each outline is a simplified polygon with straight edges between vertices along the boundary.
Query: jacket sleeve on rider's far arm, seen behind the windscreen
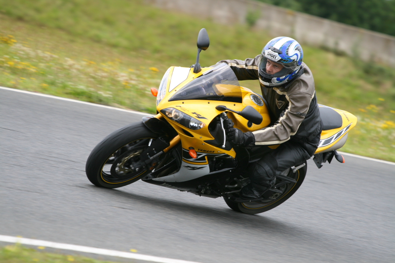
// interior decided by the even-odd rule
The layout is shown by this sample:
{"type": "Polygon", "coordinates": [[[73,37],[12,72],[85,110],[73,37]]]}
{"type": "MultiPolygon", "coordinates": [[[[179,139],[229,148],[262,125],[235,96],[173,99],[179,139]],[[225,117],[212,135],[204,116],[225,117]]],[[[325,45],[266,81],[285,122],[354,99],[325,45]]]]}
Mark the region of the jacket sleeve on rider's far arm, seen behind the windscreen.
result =
{"type": "Polygon", "coordinates": [[[246,60],[229,59],[221,60],[218,63],[228,64],[235,72],[238,80],[255,80],[259,79],[258,66],[260,60],[261,55],[258,55],[255,58],[247,58],[246,60]]]}

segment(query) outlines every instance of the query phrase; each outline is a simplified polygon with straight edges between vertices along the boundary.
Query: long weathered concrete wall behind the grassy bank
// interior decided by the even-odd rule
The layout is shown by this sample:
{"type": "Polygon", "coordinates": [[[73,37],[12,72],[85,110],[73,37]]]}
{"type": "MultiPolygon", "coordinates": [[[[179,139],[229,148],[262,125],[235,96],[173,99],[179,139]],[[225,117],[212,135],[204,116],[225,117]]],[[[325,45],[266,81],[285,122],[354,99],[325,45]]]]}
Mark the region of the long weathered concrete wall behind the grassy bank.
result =
{"type": "Polygon", "coordinates": [[[395,37],[252,0],[145,0],[159,8],[210,18],[222,24],[246,23],[248,12],[260,12],[255,27],[273,37],[287,36],[300,43],[395,67],[395,37]]]}

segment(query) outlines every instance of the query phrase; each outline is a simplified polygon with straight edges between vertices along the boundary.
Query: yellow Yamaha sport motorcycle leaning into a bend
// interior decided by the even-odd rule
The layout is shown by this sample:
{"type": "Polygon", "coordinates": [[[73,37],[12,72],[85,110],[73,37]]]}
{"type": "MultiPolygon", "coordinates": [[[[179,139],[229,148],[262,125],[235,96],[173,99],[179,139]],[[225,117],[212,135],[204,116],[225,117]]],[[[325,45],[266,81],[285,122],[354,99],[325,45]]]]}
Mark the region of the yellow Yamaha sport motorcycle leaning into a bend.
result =
{"type": "MultiPolygon", "coordinates": [[[[223,197],[230,208],[258,214],[287,200],[302,184],[304,161],[276,175],[276,184],[254,201],[235,201],[249,183],[246,168],[279,145],[243,148],[226,140],[225,130],[243,132],[267,127],[271,120],[262,96],[241,87],[226,64],[201,68],[199,53],[209,45],[205,29],[197,38],[197,62],[192,68],[170,67],[157,96],[157,115],[118,129],[90,153],[86,175],[98,187],[118,188],[138,180],[191,192],[223,197]]],[[[351,113],[319,105],[323,131],[314,162],[320,168],[335,157],[356,125],[351,113]]]]}

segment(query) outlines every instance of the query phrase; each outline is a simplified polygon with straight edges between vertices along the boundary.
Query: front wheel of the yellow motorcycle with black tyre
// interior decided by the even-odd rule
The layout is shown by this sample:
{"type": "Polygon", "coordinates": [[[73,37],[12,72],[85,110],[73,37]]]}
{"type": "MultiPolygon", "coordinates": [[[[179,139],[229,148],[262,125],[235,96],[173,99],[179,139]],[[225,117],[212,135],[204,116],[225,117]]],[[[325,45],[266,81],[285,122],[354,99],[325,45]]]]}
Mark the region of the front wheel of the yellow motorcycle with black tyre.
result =
{"type": "Polygon", "coordinates": [[[131,162],[158,138],[144,123],[137,122],[118,129],[103,139],[90,153],[85,172],[97,187],[118,188],[132,184],[147,174],[147,169],[134,171],[131,162]]]}

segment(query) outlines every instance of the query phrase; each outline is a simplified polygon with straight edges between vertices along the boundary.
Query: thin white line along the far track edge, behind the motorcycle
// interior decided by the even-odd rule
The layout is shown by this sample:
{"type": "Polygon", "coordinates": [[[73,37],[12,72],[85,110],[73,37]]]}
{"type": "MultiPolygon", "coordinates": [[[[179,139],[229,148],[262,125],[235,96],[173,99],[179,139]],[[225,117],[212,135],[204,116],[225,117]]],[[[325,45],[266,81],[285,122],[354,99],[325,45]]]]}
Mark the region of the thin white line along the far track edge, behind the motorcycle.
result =
{"type": "MultiPolygon", "coordinates": [[[[52,99],[57,99],[57,100],[76,102],[76,103],[81,103],[81,104],[86,104],[86,105],[91,105],[91,106],[96,106],[96,107],[102,107],[102,108],[116,110],[116,111],[121,111],[121,112],[135,113],[135,114],[141,114],[141,115],[146,115],[146,116],[147,115],[151,115],[152,116],[152,114],[150,114],[150,113],[129,111],[129,110],[124,110],[124,109],[115,108],[115,107],[111,107],[111,106],[105,106],[105,105],[100,105],[100,104],[95,104],[95,103],[90,103],[90,102],[66,99],[66,98],[62,98],[62,97],[56,97],[56,96],[52,96],[52,95],[46,95],[46,94],[42,94],[42,93],[30,92],[30,91],[25,91],[25,90],[20,90],[20,89],[12,89],[12,88],[6,88],[6,87],[1,87],[1,86],[0,86],[0,89],[5,89],[5,90],[10,90],[10,91],[15,91],[15,92],[21,92],[21,93],[26,93],[26,94],[31,94],[31,95],[36,95],[36,96],[41,96],[41,97],[46,97],[46,98],[52,98],[52,99]]],[[[347,153],[347,152],[340,152],[339,151],[339,153],[344,154],[344,155],[348,155],[348,156],[352,156],[352,157],[356,157],[356,158],[365,159],[365,160],[370,160],[370,161],[376,161],[376,162],[381,162],[381,163],[395,165],[395,162],[389,162],[389,161],[374,159],[374,158],[360,156],[360,155],[347,153]]]]}

